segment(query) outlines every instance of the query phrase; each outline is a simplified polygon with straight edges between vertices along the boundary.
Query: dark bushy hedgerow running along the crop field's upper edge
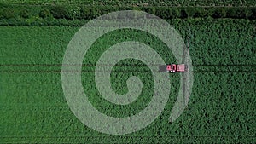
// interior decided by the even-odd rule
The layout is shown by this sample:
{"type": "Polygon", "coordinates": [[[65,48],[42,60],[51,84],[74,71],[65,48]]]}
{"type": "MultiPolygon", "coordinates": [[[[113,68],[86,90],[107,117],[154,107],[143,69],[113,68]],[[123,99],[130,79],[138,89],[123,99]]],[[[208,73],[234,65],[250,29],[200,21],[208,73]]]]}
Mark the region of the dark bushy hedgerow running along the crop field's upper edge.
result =
{"type": "MultiPolygon", "coordinates": [[[[0,4],[1,26],[81,26],[80,20],[94,19],[117,10],[143,10],[162,19],[233,18],[256,19],[256,7],[120,7],[78,5],[8,5],[0,4]]],[[[84,21],[83,21],[84,23],[84,21]]]]}

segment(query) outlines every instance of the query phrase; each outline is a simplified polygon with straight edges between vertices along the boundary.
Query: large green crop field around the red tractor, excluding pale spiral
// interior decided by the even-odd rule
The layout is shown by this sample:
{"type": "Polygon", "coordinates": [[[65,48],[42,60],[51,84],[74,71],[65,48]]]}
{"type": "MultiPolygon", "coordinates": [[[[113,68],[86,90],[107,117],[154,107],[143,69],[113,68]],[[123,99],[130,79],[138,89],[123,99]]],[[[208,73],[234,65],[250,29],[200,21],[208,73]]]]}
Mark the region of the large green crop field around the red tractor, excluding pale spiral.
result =
{"type": "MultiPolygon", "coordinates": [[[[176,2],[183,1],[164,1],[166,4],[176,2]]],[[[218,1],[217,5],[222,2],[218,1]]],[[[241,2],[253,4],[253,1],[241,2]]],[[[160,1],[152,1],[155,3],[160,1]]],[[[190,37],[194,84],[189,105],[176,121],[168,123],[180,85],[180,75],[170,73],[171,93],[160,117],[143,130],[127,135],[92,130],[82,124],[67,105],[61,85],[61,65],[67,45],[80,26],[0,26],[0,143],[255,142],[255,20],[166,21],[185,42],[190,37]]],[[[177,62],[166,44],[147,32],[122,29],[99,37],[84,55],[81,79],[91,104],[112,117],[127,117],[142,111],[154,94],[152,72],[142,61],[133,59],[119,61],[110,77],[111,86],[119,95],[128,92],[128,78],[140,78],[143,89],[136,101],[115,105],[103,99],[97,90],[94,73],[97,60],[113,44],[126,41],[147,44],[166,64],[177,62]]]]}

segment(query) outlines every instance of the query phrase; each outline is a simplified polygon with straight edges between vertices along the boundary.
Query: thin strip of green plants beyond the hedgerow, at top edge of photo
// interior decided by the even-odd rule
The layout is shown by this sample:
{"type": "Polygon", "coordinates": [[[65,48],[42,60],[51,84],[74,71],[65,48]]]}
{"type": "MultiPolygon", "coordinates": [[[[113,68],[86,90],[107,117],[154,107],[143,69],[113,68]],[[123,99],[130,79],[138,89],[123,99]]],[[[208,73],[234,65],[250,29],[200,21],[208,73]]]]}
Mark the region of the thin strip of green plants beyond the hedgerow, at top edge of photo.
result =
{"type": "Polygon", "coordinates": [[[104,5],[104,6],[256,6],[254,0],[154,0],[154,1],[119,1],[119,0],[2,0],[3,3],[11,4],[40,4],[40,5],[63,5],[67,3],[69,5],[104,5]]]}

